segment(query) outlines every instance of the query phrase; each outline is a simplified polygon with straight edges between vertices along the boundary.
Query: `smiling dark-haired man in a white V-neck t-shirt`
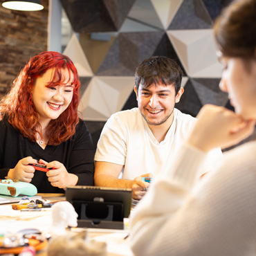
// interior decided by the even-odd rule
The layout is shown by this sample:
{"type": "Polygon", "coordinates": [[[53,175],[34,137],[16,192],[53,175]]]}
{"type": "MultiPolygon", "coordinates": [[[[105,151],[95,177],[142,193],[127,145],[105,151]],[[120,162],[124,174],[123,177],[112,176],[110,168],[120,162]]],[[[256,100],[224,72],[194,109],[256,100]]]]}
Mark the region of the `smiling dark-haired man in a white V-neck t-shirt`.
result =
{"type": "MultiPolygon", "coordinates": [[[[102,129],[95,185],[132,188],[133,198],[139,200],[149,187],[142,177],[169,172],[177,149],[196,122],[174,108],[184,91],[181,80],[181,68],[168,57],[149,57],[136,68],[138,108],[113,114],[102,129]]],[[[209,152],[204,172],[220,156],[221,149],[209,152]]]]}

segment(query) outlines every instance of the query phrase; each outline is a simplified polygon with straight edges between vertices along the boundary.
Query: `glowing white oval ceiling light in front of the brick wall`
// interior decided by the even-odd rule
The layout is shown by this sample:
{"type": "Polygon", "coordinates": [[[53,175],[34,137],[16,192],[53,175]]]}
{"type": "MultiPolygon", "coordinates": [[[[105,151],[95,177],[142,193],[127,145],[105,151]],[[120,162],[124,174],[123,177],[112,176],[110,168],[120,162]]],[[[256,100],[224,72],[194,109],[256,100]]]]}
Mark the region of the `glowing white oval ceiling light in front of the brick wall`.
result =
{"type": "Polygon", "coordinates": [[[4,1],[2,3],[2,6],[4,8],[8,8],[8,9],[12,9],[12,10],[28,10],[28,11],[32,11],[32,10],[42,10],[44,9],[44,6],[42,6],[41,1],[40,0],[27,0],[27,1],[20,1],[20,0],[16,0],[16,1],[4,1]]]}

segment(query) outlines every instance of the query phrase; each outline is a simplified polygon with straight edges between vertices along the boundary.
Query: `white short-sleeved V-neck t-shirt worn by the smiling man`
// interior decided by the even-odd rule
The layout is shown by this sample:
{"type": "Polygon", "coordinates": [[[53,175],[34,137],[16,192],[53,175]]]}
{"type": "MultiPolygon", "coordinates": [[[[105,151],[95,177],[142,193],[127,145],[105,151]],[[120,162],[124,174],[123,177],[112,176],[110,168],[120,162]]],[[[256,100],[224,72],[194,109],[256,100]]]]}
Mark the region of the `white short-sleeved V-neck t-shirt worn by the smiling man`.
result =
{"type": "MultiPolygon", "coordinates": [[[[172,170],[174,152],[195,122],[196,118],[174,109],[174,120],[165,140],[158,143],[138,108],[114,113],[102,129],[95,161],[124,165],[123,179],[132,180],[149,172],[154,176],[165,174],[172,170]]],[[[210,152],[203,172],[211,170],[219,156],[221,149],[210,152]]]]}

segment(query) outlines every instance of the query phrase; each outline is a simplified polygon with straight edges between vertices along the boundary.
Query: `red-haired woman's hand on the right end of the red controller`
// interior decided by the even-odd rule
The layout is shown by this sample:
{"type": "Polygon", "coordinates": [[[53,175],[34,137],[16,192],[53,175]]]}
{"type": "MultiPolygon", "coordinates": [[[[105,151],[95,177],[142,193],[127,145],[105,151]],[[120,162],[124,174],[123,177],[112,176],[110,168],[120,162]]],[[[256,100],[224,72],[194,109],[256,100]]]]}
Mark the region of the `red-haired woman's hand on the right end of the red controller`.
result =
{"type": "Polygon", "coordinates": [[[48,181],[53,187],[64,189],[68,185],[77,184],[78,177],[75,174],[68,173],[66,167],[62,163],[58,161],[47,163],[42,159],[39,160],[39,163],[46,165],[47,168],[55,168],[54,170],[48,170],[48,172],[46,172],[46,175],[48,176],[48,181]]]}

